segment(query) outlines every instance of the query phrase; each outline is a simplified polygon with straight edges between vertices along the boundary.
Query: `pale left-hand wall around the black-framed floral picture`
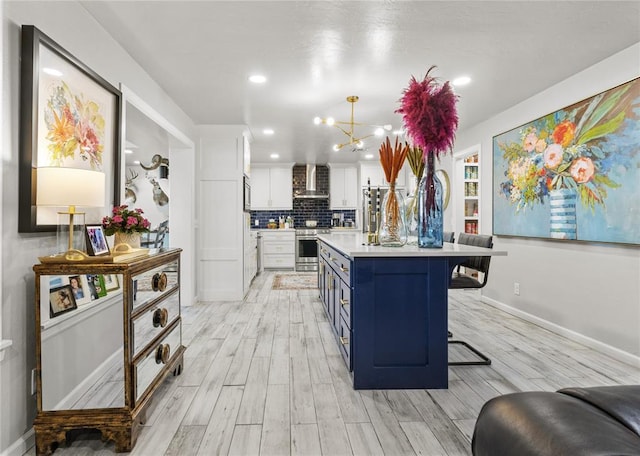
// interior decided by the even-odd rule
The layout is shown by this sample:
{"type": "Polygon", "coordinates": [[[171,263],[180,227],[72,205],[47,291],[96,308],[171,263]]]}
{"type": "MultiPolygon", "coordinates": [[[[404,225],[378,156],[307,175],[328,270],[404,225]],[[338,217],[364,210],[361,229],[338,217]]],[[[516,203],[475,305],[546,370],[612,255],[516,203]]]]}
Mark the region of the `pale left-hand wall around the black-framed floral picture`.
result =
{"type": "MultiPolygon", "coordinates": [[[[20,26],[31,24],[112,85],[126,84],[177,129],[193,122],[77,2],[0,3],[2,15],[2,338],[13,345],[0,361],[0,453],[22,454],[35,417],[30,373],[35,364],[32,266],[55,247],[55,234],[18,233],[20,26]]],[[[195,142],[195,141],[194,141],[195,142]]]]}

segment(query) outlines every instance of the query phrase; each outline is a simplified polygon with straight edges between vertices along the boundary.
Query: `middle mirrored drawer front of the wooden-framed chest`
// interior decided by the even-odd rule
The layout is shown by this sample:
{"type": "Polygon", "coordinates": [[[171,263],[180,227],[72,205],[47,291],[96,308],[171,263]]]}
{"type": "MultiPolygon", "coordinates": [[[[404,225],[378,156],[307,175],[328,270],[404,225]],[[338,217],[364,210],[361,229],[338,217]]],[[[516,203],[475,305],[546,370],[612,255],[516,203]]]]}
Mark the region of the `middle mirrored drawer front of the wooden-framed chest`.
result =
{"type": "Polygon", "coordinates": [[[180,315],[180,293],[176,290],[133,321],[134,356],[180,315]]]}

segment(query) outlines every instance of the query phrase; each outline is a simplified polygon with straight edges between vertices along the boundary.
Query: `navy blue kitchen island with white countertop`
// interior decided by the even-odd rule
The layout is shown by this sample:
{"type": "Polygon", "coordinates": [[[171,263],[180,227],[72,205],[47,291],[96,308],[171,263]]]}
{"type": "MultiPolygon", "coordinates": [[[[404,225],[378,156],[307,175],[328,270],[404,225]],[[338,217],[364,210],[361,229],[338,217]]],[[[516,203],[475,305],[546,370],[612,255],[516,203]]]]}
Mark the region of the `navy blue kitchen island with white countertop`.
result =
{"type": "Polygon", "coordinates": [[[318,236],[320,298],[355,389],[447,388],[453,268],[505,251],[445,243],[365,245],[362,233],[318,236]]]}

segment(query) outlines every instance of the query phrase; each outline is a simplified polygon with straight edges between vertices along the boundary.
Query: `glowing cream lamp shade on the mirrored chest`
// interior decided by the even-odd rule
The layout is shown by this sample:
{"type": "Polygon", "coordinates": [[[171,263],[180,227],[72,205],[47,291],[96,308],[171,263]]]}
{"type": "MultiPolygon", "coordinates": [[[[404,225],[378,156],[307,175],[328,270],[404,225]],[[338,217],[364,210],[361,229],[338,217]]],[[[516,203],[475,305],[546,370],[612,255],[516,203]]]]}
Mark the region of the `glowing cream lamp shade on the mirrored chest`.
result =
{"type": "Polygon", "coordinates": [[[105,205],[105,176],[100,171],[77,168],[37,168],[36,205],[105,205]]]}

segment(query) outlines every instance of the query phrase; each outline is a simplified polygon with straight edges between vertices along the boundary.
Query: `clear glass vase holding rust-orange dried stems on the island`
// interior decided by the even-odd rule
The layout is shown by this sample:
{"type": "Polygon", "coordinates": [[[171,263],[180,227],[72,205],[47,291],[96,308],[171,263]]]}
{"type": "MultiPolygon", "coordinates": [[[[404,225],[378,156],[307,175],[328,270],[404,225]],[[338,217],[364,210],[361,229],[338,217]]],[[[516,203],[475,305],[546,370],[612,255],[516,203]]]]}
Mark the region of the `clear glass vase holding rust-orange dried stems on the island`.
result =
{"type": "Polygon", "coordinates": [[[409,146],[400,143],[397,137],[392,149],[388,136],[386,142],[380,146],[380,163],[389,182],[389,191],[382,200],[378,230],[378,242],[385,247],[402,247],[407,243],[404,198],[402,192],[396,190],[396,178],[404,164],[408,149],[409,146]]]}

